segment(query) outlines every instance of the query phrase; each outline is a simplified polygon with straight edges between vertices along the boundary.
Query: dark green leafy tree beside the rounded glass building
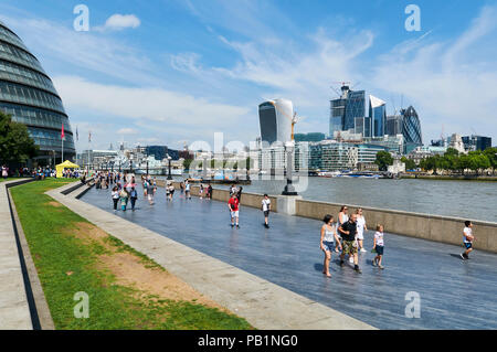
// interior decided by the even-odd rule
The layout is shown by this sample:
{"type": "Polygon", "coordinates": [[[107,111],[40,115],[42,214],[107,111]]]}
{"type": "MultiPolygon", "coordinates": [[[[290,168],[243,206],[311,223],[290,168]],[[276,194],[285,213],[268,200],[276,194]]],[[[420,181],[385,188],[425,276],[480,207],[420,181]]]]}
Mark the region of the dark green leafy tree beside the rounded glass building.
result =
{"type": "Polygon", "coordinates": [[[34,143],[23,124],[12,121],[10,115],[0,111],[0,161],[2,163],[25,162],[36,156],[34,143]]]}

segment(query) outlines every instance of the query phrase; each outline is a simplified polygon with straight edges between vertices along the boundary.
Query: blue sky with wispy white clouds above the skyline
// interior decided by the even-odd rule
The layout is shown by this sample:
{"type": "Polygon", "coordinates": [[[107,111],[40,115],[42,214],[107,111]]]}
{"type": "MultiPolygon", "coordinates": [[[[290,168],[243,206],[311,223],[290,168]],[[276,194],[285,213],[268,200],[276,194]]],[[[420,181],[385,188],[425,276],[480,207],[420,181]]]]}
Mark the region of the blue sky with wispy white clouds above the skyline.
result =
{"type": "Polygon", "coordinates": [[[248,145],[257,106],[287,98],[296,132],[329,130],[340,82],[414,106],[423,141],[497,140],[497,1],[2,0],[0,20],[39,58],[78,151],[248,145]],[[88,31],[76,31],[78,4],[88,31]],[[408,31],[409,4],[420,30],[408,31]]]}

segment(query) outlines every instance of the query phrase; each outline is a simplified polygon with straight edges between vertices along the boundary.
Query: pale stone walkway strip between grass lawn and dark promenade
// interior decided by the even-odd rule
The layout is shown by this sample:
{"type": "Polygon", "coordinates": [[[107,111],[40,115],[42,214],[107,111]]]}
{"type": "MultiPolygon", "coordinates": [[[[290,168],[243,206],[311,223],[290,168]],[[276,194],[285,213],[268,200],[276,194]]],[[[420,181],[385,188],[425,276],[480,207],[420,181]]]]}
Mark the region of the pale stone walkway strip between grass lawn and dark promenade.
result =
{"type": "MultiPolygon", "coordinates": [[[[81,193],[81,190],[68,195],[61,194],[62,190],[71,186],[72,184],[68,184],[49,191],[47,194],[136,250],[146,254],[201,294],[245,318],[257,329],[374,329],[313,299],[147,230],[146,226],[139,226],[76,200],[75,196],[81,193]]],[[[109,200],[107,198],[109,194],[103,194],[96,190],[91,190],[87,194],[93,194],[94,191],[97,199],[104,202],[109,200]]],[[[144,210],[145,204],[140,206],[144,210]]],[[[148,217],[148,212],[140,213],[148,217]]],[[[155,216],[158,215],[159,213],[156,213],[155,216]]],[[[145,222],[147,222],[146,218],[145,222]]],[[[191,222],[193,223],[194,221],[191,222]]],[[[163,224],[159,227],[162,227],[161,232],[165,230],[163,224]]],[[[169,231],[176,230],[169,227],[167,232],[169,231]]],[[[210,235],[199,233],[204,236],[210,235]]],[[[202,241],[215,246],[205,237],[202,241]]]]}

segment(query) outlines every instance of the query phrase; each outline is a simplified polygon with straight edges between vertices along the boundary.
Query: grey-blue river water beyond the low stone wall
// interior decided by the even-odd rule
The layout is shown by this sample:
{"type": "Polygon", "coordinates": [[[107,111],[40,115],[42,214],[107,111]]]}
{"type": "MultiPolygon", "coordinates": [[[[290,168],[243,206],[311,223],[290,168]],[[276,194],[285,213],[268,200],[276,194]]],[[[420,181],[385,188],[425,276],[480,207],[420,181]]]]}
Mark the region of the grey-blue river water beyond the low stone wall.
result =
{"type": "MultiPolygon", "coordinates": [[[[497,182],[307,178],[305,183],[298,191],[306,200],[497,222],[497,182]]],[[[243,190],[281,194],[285,184],[254,180],[243,190]]]]}

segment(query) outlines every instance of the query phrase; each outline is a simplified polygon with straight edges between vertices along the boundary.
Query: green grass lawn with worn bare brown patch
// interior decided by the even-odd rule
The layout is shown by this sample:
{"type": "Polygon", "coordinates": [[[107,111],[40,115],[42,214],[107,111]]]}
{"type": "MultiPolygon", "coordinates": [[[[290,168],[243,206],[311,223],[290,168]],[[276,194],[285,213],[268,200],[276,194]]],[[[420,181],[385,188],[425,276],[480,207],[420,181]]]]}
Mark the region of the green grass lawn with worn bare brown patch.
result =
{"type": "Polygon", "coordinates": [[[46,179],[11,189],[56,329],[252,329],[44,194],[68,182],[46,179]],[[81,291],[89,297],[87,319],[74,317],[81,291]]]}

